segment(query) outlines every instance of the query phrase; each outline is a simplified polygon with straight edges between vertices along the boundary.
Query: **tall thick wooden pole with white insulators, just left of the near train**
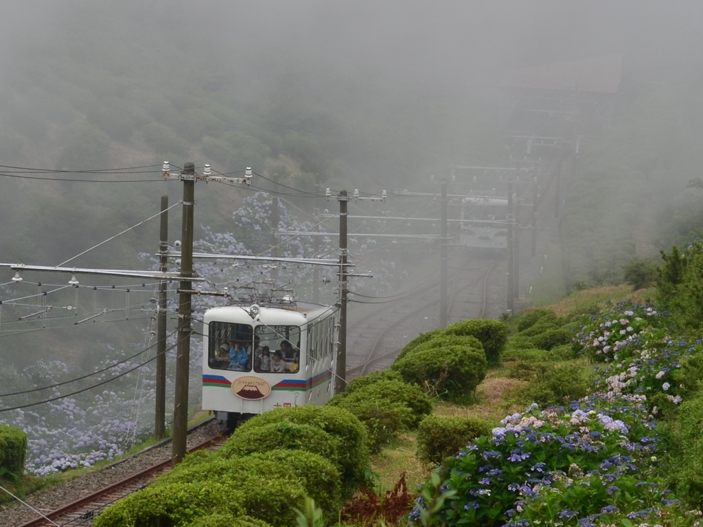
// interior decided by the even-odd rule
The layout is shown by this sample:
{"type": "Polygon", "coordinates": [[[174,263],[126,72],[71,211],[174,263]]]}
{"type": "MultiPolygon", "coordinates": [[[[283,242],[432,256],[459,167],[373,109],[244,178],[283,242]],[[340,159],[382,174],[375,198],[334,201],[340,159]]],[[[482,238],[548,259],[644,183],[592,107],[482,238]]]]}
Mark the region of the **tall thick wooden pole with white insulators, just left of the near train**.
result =
{"type": "Polygon", "coordinates": [[[183,164],[183,235],[181,247],[181,283],[179,285],[178,347],[176,354],[176,396],[174,401],[174,438],[172,466],[186,455],[188,435],[188,379],[191,360],[191,290],[193,277],[193,207],[195,205],[195,164],[183,164]]]}

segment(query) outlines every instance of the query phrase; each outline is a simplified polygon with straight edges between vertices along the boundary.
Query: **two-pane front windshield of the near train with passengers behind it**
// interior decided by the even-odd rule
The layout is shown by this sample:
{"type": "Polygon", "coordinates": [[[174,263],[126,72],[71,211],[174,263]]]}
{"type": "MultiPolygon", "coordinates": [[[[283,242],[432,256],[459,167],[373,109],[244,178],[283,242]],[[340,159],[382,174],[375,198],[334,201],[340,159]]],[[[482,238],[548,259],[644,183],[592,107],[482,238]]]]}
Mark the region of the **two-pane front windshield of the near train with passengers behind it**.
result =
{"type": "Polygon", "coordinates": [[[207,363],[215,370],[295,373],[300,367],[298,326],[252,327],[209,323],[207,363]]]}

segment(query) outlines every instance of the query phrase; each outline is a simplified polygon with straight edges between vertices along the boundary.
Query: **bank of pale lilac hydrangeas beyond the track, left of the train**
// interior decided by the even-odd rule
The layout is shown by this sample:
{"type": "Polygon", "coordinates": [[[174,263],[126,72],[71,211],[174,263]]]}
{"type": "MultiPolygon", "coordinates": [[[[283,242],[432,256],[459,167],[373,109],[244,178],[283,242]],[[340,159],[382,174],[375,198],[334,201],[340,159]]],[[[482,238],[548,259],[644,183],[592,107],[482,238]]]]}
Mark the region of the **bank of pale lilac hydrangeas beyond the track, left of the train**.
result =
{"type": "MultiPolygon", "coordinates": [[[[170,341],[167,347],[175,344],[170,341]]],[[[202,346],[193,342],[191,349],[191,403],[200,400],[200,378],[202,346]]],[[[140,346],[142,346],[140,344],[140,346]]],[[[113,365],[105,372],[82,381],[47,389],[37,393],[18,396],[4,396],[1,408],[12,408],[49,398],[57,398],[64,393],[78,391],[117,377],[153,357],[143,353],[125,360],[131,353],[103,350],[111,358],[105,359],[95,370],[113,365]]],[[[172,408],[174,393],[172,371],[175,364],[175,349],[167,352],[167,408],[172,408]]],[[[60,398],[55,402],[11,410],[0,414],[0,422],[17,427],[27,434],[27,459],[25,469],[31,474],[44,476],[77,467],[91,467],[96,462],[119,457],[137,441],[153,432],[155,400],[154,362],[112,382],[89,389],[75,396],[60,398]]],[[[32,386],[49,386],[69,379],[81,377],[89,372],[70,369],[59,360],[38,360],[19,372],[21,382],[15,386],[31,389],[32,386]]],[[[4,393],[13,393],[4,391],[4,393]]],[[[169,419],[170,412],[167,412],[169,419]]],[[[168,426],[168,423],[167,423],[168,426]]]]}

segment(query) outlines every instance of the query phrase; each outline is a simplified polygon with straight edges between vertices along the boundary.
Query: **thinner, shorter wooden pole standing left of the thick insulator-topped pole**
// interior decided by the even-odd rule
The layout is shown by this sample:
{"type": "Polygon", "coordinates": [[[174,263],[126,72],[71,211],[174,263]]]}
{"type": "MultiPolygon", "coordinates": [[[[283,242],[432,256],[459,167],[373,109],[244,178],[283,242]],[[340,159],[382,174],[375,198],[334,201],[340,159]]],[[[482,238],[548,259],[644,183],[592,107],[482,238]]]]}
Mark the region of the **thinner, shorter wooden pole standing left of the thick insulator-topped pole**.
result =
{"type": "MultiPolygon", "coordinates": [[[[169,197],[161,197],[161,230],[159,235],[159,271],[168,271],[169,252],[169,197]]],[[[166,433],[166,280],[159,282],[158,314],[156,327],[156,410],[155,438],[162,439],[166,433]]]]}

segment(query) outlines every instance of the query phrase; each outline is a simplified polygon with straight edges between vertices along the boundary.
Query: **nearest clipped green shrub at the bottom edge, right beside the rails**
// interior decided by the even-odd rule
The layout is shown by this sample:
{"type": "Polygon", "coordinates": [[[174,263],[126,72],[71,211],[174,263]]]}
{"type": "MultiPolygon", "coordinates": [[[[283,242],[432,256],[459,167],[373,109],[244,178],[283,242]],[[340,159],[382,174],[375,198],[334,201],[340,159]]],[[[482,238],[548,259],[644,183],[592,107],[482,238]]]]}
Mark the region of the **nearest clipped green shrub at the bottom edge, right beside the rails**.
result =
{"type": "Polygon", "coordinates": [[[148,486],[105,509],[93,526],[186,526],[200,516],[213,513],[243,516],[250,491],[217,482],[148,486]]]}

